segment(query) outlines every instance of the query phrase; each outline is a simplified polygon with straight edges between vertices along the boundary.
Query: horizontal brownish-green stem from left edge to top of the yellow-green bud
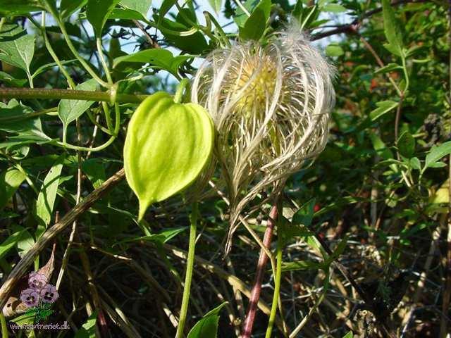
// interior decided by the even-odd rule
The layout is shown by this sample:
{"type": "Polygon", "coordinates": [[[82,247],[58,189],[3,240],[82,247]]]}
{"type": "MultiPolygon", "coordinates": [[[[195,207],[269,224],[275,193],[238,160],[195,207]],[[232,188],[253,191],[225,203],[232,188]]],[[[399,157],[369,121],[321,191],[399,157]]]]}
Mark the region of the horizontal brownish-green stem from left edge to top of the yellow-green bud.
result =
{"type": "MultiPolygon", "coordinates": [[[[44,88],[0,88],[0,99],[70,99],[85,101],[111,101],[111,92],[44,88]]],[[[139,104],[147,95],[116,94],[116,102],[139,104]]]]}

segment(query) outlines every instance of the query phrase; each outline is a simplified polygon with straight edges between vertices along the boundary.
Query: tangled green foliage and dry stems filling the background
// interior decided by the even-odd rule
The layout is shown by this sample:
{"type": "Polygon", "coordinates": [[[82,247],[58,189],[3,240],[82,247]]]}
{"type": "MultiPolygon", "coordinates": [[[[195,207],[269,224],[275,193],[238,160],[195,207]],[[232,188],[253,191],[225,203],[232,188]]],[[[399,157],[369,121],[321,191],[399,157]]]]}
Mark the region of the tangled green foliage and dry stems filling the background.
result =
{"type": "MultiPolygon", "coordinates": [[[[221,39],[259,38],[290,18],[335,65],[337,104],[325,151],[279,199],[273,337],[445,337],[450,6],[0,0],[0,301],[9,323],[29,323],[20,277],[47,267],[60,294],[47,323],[70,324],[13,332],[1,318],[3,337],[174,336],[190,206],[175,196],[137,223],[137,199],[118,171],[128,120],[140,95],[175,92],[221,39]],[[263,21],[242,9],[252,18],[262,6],[270,8],[263,21]]],[[[239,334],[260,250],[254,235],[262,237],[271,208],[247,215],[224,256],[228,206],[215,188],[199,203],[186,331],[228,303],[203,322],[209,333],[189,337],[214,337],[218,316],[218,337],[239,334]]],[[[253,337],[266,332],[274,278],[268,265],[253,337]]]]}

